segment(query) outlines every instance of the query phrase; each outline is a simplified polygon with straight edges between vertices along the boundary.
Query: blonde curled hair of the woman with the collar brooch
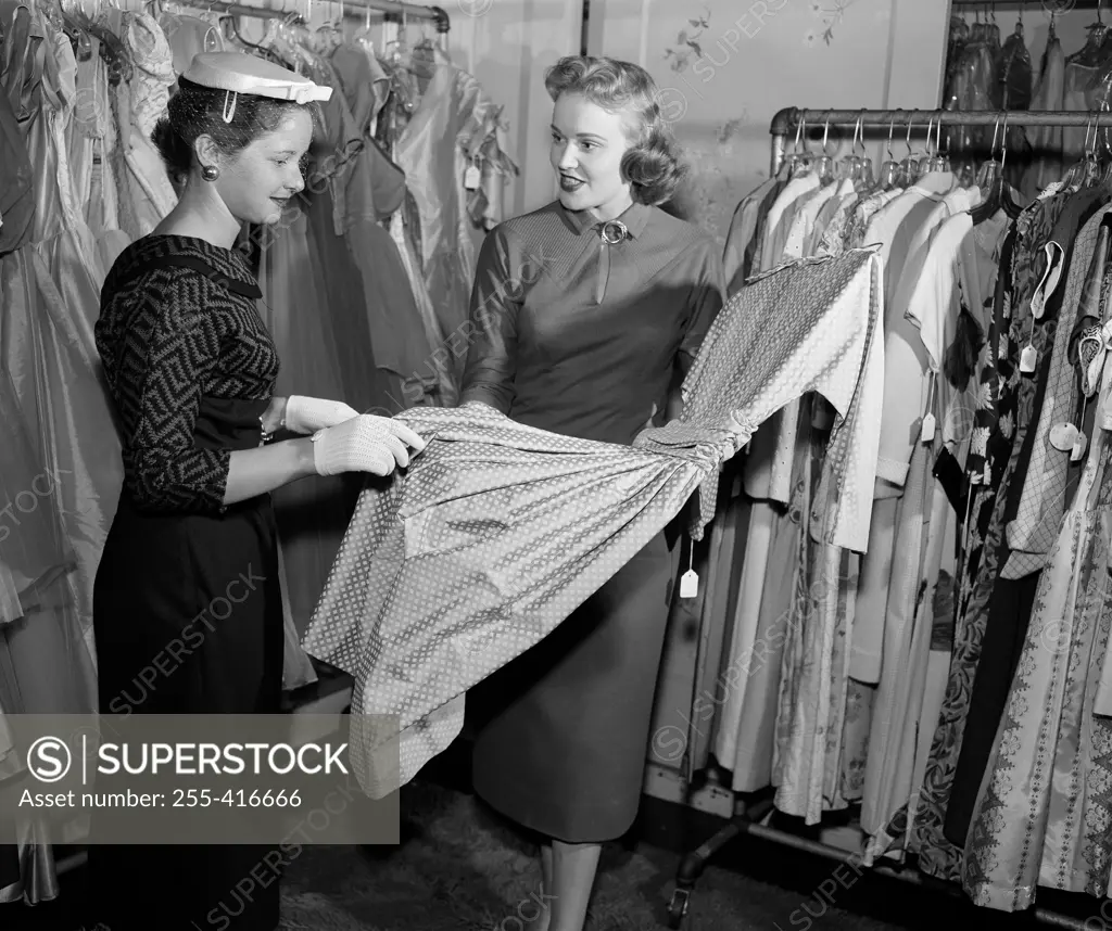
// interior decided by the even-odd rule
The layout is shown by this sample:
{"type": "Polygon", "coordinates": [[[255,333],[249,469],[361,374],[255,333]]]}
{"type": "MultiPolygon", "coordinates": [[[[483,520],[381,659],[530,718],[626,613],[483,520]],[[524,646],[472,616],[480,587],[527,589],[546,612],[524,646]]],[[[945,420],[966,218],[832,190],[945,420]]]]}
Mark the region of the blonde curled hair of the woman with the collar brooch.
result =
{"type": "Polygon", "coordinates": [[[545,73],[545,88],[554,101],[580,93],[608,112],[628,113],[631,148],[622,158],[622,174],[633,199],[653,207],[673,199],[687,167],[661,112],[656,82],[644,68],[615,58],[567,56],[545,73]]]}

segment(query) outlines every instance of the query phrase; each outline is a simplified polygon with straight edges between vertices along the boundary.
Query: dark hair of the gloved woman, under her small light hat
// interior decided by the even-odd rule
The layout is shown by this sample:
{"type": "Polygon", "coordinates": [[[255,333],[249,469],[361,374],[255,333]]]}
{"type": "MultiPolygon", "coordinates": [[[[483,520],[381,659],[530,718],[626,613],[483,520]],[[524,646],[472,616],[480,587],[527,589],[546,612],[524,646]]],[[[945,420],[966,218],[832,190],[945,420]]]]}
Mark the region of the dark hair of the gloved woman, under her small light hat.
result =
{"type": "Polygon", "coordinates": [[[230,123],[224,121],[225,92],[178,79],[177,92],[170,97],[169,117],[163,117],[151,132],[151,141],[166,162],[167,173],[177,190],[185,187],[196,163],[193,143],[198,137],[210,136],[220,150],[234,156],[246,149],[265,132],[274,132],[282,119],[295,110],[307,110],[317,128],[312,107],[290,100],[241,93],[230,123]]]}

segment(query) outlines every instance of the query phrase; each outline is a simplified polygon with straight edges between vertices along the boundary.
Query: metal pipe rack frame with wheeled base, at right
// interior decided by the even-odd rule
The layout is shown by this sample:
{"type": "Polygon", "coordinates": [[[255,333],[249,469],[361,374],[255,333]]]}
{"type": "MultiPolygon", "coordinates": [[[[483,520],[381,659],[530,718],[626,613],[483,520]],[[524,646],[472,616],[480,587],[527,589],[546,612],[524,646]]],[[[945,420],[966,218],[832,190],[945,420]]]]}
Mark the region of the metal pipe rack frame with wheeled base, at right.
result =
{"type": "MultiPolygon", "coordinates": [[[[1007,2],[1009,0],[1005,0],[1007,2]]],[[[955,4],[961,0],[953,0],[955,4]]],[[[966,3],[965,6],[974,6],[966,3]]],[[[975,6],[981,6],[977,3],[975,6]]],[[[784,162],[784,149],[791,138],[794,141],[797,129],[810,127],[877,127],[888,129],[890,127],[922,126],[929,124],[937,127],[947,126],[1061,126],[1061,127],[1086,127],[1099,123],[1101,117],[1106,124],[1112,124],[1112,113],[1100,111],[1066,111],[1066,110],[1007,110],[1007,111],[959,111],[959,110],[802,110],[795,107],[786,107],[772,118],[770,133],[772,134],[772,174],[780,171],[784,162]]],[[[702,640],[698,641],[702,644],[702,640]]],[[[695,669],[702,668],[705,659],[699,654],[695,658],[695,669]]],[[[708,782],[716,783],[719,788],[728,785],[728,779],[723,779],[717,769],[712,765],[707,771],[708,782]]],[[[694,892],[695,883],[706,869],[707,862],[723,847],[736,838],[756,837],[772,843],[822,857],[841,863],[855,864],[860,868],[860,854],[845,850],[834,844],[822,841],[810,840],[797,837],[787,831],[768,827],[763,823],[765,815],[772,811],[773,804],[767,799],[755,801],[746,805],[739,814],[735,814],[721,828],[713,837],[702,843],[697,849],[687,853],[679,862],[676,870],[676,889],[672,894],[668,905],[668,927],[678,929],[683,925],[684,917],[691,897],[694,892]]],[[[871,873],[885,878],[897,879],[909,882],[942,894],[964,898],[964,892],[954,883],[944,882],[933,877],[920,873],[917,870],[900,864],[888,864],[883,859],[870,869],[871,873]]],[[[1094,899],[1095,903],[1096,900],[1094,899]]],[[[1092,911],[1095,911],[1094,905],[1092,911]]],[[[1091,912],[1092,913],[1092,912],[1091,912]]],[[[1066,928],[1071,931],[1088,931],[1091,925],[1090,920],[1073,918],[1051,909],[1034,907],[1030,910],[1034,920],[1039,924],[1052,928],[1066,928]]]]}

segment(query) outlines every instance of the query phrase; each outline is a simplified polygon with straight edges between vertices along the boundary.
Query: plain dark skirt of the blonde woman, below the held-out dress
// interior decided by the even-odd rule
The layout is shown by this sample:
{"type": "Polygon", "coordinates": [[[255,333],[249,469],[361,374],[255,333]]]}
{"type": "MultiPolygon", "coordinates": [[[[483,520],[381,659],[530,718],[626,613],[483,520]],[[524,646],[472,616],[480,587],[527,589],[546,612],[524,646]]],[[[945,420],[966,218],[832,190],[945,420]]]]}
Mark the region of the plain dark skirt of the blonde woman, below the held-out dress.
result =
{"type": "Polygon", "coordinates": [[[475,791],[568,843],[625,834],[641,801],[672,561],[657,534],[528,652],[468,693],[475,791]]]}

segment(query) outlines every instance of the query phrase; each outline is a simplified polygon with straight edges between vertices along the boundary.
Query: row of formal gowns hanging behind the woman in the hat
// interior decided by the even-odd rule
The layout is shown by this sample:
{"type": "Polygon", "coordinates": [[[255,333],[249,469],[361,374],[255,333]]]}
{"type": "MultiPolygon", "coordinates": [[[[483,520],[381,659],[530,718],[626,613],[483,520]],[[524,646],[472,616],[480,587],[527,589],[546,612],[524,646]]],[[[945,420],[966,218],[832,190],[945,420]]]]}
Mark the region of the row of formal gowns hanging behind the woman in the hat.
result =
{"type": "MultiPolygon", "coordinates": [[[[0,0],[0,722],[96,710],[92,588],[122,467],[93,326],[116,257],[177,203],[151,133],[195,53],[247,51],[335,90],[315,104],[305,190],[241,242],[284,362],[277,391],[388,414],[456,401],[461,360],[445,347],[467,316],[469,230],[500,219],[516,171],[500,108],[426,20],[387,47],[361,9],[316,31],[258,12],[249,42],[248,21],[207,6],[0,0]]],[[[356,495],[342,478],[274,495],[287,689],[316,678],[300,630],[356,495]]],[[[148,688],[101,710],[125,713],[148,688]]],[[[0,775],[16,762],[0,727],[0,775]]],[[[79,841],[72,828],[54,840],[79,841]]],[[[20,825],[21,881],[0,900],[57,894],[37,830],[20,825]]]]}

